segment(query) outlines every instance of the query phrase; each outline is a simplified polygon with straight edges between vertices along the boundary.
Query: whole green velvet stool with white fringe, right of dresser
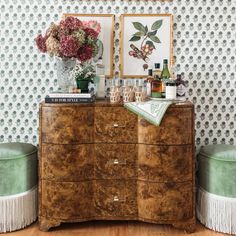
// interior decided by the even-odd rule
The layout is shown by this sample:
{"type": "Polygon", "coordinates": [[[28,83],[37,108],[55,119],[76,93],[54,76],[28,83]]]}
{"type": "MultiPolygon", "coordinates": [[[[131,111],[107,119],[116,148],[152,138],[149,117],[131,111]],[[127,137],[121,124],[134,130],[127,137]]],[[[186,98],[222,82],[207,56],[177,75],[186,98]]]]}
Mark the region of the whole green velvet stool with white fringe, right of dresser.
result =
{"type": "Polygon", "coordinates": [[[206,227],[236,234],[236,146],[217,144],[198,154],[197,217],[206,227]]]}

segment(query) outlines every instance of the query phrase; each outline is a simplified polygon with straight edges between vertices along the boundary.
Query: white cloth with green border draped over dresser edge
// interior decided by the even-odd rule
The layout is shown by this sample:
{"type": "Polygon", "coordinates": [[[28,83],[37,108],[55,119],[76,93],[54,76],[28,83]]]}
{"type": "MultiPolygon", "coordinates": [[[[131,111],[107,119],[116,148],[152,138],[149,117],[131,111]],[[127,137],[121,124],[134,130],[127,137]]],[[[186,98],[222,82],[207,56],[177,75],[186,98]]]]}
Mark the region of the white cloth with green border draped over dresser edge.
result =
{"type": "Polygon", "coordinates": [[[128,102],[124,104],[124,107],[151,124],[159,126],[167,108],[171,104],[171,101],[150,100],[146,102],[128,102]]]}

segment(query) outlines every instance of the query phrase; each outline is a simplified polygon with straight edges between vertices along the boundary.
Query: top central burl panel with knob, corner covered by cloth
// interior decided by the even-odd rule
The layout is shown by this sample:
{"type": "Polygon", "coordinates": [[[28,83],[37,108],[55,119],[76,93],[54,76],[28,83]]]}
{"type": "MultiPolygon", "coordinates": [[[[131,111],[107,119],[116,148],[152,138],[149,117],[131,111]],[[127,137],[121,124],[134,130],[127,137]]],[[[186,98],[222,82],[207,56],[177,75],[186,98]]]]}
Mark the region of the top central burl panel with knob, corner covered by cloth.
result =
{"type": "Polygon", "coordinates": [[[123,107],[96,107],[95,117],[95,142],[137,143],[137,115],[123,107]]]}

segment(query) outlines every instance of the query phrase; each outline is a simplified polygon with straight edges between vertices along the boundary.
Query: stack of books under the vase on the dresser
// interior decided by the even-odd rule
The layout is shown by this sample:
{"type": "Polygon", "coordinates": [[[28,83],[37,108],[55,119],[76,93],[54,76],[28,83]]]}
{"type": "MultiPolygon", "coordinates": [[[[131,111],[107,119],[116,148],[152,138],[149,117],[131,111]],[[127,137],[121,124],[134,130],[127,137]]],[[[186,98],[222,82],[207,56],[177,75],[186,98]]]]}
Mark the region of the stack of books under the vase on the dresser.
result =
{"type": "Polygon", "coordinates": [[[52,92],[45,97],[45,103],[91,103],[95,102],[94,91],[89,93],[52,92]]]}

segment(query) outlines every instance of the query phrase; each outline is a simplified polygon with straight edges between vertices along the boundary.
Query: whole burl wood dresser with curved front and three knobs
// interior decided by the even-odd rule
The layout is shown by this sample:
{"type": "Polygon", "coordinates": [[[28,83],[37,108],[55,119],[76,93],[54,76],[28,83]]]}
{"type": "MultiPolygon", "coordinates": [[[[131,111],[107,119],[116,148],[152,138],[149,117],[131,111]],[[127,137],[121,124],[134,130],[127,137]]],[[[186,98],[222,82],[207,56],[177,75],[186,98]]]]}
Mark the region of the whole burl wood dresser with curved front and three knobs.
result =
{"type": "Polygon", "coordinates": [[[39,226],[140,220],[195,229],[194,109],[159,127],[122,104],[40,105],[39,226]]]}

